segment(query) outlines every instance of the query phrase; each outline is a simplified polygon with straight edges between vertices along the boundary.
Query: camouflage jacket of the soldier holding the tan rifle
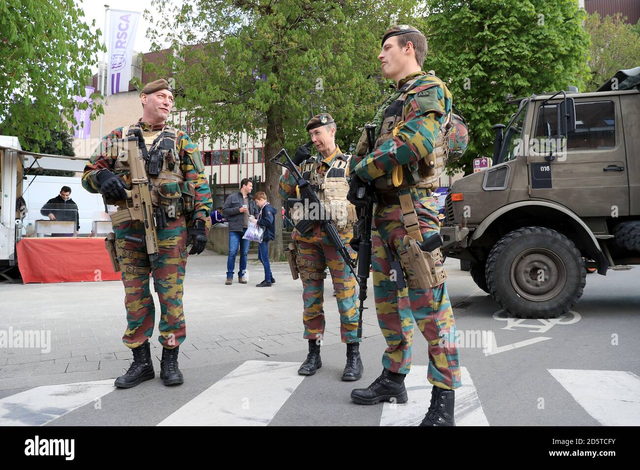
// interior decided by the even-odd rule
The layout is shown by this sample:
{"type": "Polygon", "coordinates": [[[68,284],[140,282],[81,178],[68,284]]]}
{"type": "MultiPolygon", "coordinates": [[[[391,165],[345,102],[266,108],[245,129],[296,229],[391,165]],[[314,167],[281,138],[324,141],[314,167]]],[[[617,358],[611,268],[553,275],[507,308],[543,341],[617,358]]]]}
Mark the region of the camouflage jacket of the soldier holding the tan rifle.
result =
{"type": "MultiPolygon", "coordinates": [[[[154,126],[152,129],[150,125],[144,122],[141,122],[140,125],[145,132],[162,128],[160,126],[154,126]]],[[[113,130],[108,136],[102,137],[102,143],[100,143],[100,145],[95,149],[89,163],[84,167],[82,185],[87,191],[100,192],[98,180],[96,178],[100,169],[106,168],[109,169],[109,171],[113,171],[117,155],[114,154],[115,152],[113,151],[110,141],[111,139],[122,139],[122,129],[122,127],[118,127],[118,129],[113,130]]],[[[195,145],[195,143],[189,139],[189,136],[182,130],[177,131],[175,142],[176,151],[180,157],[180,165],[182,173],[184,174],[184,179],[186,181],[193,182],[196,187],[195,208],[193,210],[191,220],[195,221],[196,219],[202,219],[205,221],[208,228],[211,226],[211,219],[209,218],[209,215],[211,214],[213,207],[211,190],[209,189],[209,182],[207,182],[207,177],[205,176],[204,171],[198,171],[196,169],[191,157],[191,155],[195,155],[195,157],[199,159],[200,151],[198,150],[198,146],[195,145]]],[[[131,175],[129,174],[129,171],[116,174],[124,180],[127,186],[131,185],[131,175]]]]}

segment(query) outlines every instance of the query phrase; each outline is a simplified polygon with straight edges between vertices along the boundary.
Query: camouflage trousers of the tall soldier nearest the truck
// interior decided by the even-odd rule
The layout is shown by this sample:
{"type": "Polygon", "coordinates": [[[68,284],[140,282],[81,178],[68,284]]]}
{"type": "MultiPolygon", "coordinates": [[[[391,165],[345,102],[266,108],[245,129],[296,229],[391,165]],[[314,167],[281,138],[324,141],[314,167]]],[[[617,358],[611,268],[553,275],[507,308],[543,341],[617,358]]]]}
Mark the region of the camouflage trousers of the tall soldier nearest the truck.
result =
{"type": "MultiPolygon", "coordinates": [[[[417,212],[424,237],[439,230],[438,206],[424,189],[411,189],[413,207],[417,212]]],[[[429,367],[427,379],[445,389],[460,387],[460,363],[454,341],[456,322],[446,283],[430,289],[397,288],[390,279],[390,263],[385,251],[388,244],[392,255],[404,251],[406,235],[399,205],[378,206],[372,229],[372,268],[378,324],[387,349],[382,365],[392,372],[409,373],[412,359],[414,323],[428,342],[429,367]]]]}

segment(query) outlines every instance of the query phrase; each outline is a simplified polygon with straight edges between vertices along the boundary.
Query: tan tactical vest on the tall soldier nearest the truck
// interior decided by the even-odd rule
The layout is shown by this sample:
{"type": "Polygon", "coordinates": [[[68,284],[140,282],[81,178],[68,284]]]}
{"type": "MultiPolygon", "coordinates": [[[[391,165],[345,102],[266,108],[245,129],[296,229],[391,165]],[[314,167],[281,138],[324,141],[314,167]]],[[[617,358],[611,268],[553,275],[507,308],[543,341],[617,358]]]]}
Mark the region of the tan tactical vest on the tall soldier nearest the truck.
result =
{"type": "MultiPolygon", "coordinates": [[[[428,73],[429,76],[436,79],[431,86],[442,86],[446,88],[444,82],[437,79],[433,74],[433,70],[428,73]]],[[[383,143],[395,137],[402,125],[404,124],[404,102],[412,91],[413,84],[420,78],[415,77],[407,81],[398,91],[399,96],[392,101],[389,106],[383,110],[380,127],[380,133],[376,138],[374,150],[378,149],[383,143]]],[[[436,141],[433,146],[433,152],[422,157],[417,162],[397,166],[394,171],[388,175],[380,176],[374,180],[376,189],[380,192],[398,191],[410,187],[420,187],[426,189],[438,188],[438,180],[447,161],[447,153],[449,151],[449,133],[451,130],[451,113],[446,116],[444,124],[440,127],[436,141]]],[[[366,155],[367,152],[367,136],[363,132],[356,153],[358,155],[366,155]],[[363,153],[364,151],[364,153],[363,153]]]]}

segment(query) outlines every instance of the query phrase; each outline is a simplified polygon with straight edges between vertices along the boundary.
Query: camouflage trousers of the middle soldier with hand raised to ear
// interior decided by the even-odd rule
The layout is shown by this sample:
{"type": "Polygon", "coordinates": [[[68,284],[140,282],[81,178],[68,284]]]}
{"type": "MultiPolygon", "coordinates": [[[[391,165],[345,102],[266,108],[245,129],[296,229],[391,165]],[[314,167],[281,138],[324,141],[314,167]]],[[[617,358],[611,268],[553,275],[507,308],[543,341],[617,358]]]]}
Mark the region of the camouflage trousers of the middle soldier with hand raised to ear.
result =
{"type": "MultiPolygon", "coordinates": [[[[351,247],[349,253],[355,256],[351,247]]],[[[356,279],[344,264],[342,256],[330,243],[309,243],[298,240],[298,249],[303,260],[317,263],[316,267],[307,267],[308,272],[322,274],[321,266],[328,266],[335,290],[340,313],[340,339],[343,343],[358,343],[358,313],[356,311],[356,279]]],[[[302,281],[304,290],[302,301],[304,304],[303,324],[304,337],[316,340],[324,336],[324,279],[307,279],[302,281]]]]}

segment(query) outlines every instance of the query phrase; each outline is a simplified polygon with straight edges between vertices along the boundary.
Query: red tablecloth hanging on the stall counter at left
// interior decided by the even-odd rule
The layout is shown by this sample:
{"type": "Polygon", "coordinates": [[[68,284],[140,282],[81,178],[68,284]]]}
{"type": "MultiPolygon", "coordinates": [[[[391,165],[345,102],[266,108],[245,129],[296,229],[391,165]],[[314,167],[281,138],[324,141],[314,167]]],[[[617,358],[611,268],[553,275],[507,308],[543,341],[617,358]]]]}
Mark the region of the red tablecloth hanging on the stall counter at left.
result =
{"type": "Polygon", "coordinates": [[[22,239],[16,245],[24,283],[116,281],[104,238],[47,237],[22,239]]]}

